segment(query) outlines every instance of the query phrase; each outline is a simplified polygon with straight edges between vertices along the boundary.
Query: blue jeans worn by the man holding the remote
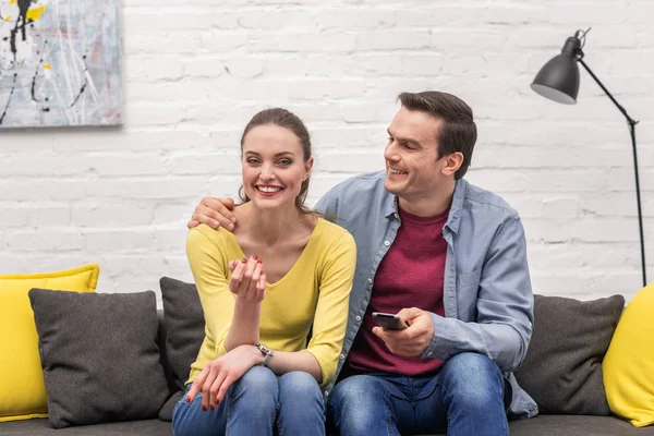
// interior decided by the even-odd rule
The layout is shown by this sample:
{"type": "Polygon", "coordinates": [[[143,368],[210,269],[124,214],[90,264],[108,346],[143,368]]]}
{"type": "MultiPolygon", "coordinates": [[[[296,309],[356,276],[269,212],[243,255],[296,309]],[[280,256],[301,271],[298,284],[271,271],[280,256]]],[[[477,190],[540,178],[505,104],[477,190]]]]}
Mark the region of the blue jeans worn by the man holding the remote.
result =
{"type": "Polygon", "coordinates": [[[434,376],[376,373],[346,378],[329,395],[327,411],[341,436],[505,436],[510,398],[505,389],[510,387],[493,361],[462,353],[434,376]]]}

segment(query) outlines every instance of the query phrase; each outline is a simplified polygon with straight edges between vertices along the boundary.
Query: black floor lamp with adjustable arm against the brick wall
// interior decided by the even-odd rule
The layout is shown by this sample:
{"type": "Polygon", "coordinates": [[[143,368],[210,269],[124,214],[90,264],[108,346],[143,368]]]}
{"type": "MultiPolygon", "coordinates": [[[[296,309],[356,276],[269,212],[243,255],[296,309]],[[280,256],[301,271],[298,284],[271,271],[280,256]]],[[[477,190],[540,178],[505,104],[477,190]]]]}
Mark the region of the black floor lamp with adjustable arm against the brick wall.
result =
{"type": "Polygon", "coordinates": [[[583,68],[589,72],[591,77],[597,82],[597,85],[604,90],[604,93],[610,98],[616,107],[622,112],[629,124],[629,132],[631,133],[631,147],[633,149],[633,169],[635,173],[635,197],[638,201],[638,223],[640,227],[640,239],[641,239],[641,263],[643,271],[643,287],[647,284],[647,278],[645,275],[645,242],[643,238],[643,214],[641,209],[640,201],[640,182],[638,178],[638,157],[635,154],[635,124],[634,121],[625,108],[622,108],[614,98],[613,95],[604,87],[602,82],[593,74],[589,65],[583,61],[583,45],[585,44],[585,36],[590,28],[585,32],[577,31],[574,36],[569,37],[564,45],[561,53],[554,57],[547,62],[538,74],[534,78],[534,83],[531,84],[533,90],[547,97],[550,100],[562,102],[565,105],[574,105],[577,102],[577,95],[579,94],[579,65],[581,63],[583,68]],[[583,44],[582,44],[583,41],[583,44]]]}

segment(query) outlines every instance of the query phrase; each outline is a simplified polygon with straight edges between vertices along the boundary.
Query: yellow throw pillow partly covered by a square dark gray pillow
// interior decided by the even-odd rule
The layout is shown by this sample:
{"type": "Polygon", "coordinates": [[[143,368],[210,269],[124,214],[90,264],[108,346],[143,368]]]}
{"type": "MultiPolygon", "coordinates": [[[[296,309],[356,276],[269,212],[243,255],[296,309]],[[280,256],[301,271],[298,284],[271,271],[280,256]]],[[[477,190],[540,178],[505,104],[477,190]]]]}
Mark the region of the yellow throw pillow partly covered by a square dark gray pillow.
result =
{"type": "Polygon", "coordinates": [[[32,288],[94,292],[100,267],[0,276],[0,422],[48,416],[32,288]]]}

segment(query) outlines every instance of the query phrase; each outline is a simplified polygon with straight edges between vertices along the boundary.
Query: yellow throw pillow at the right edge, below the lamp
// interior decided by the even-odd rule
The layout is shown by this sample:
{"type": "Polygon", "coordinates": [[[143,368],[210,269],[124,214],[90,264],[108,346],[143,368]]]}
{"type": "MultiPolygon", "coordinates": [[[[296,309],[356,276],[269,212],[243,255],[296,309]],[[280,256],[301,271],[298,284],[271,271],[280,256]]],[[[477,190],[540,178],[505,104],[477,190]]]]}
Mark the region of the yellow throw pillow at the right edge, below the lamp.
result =
{"type": "Polygon", "coordinates": [[[627,305],[602,363],[604,390],[616,415],[634,427],[654,424],[654,283],[627,305]]]}

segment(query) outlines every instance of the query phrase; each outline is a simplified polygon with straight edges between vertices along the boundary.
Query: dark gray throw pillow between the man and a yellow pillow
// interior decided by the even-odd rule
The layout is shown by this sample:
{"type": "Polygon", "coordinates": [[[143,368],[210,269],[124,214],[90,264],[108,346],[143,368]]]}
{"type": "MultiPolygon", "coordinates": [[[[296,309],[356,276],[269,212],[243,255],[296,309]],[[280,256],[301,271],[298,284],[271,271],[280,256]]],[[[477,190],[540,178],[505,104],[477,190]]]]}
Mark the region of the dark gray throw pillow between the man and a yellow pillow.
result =
{"type": "Polygon", "coordinates": [[[516,377],[541,413],[611,414],[602,361],[623,307],[622,295],[594,301],[534,295],[532,340],[516,377]]]}

